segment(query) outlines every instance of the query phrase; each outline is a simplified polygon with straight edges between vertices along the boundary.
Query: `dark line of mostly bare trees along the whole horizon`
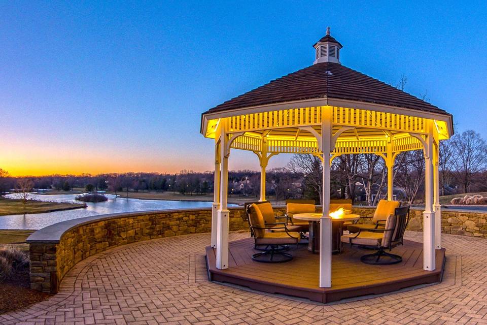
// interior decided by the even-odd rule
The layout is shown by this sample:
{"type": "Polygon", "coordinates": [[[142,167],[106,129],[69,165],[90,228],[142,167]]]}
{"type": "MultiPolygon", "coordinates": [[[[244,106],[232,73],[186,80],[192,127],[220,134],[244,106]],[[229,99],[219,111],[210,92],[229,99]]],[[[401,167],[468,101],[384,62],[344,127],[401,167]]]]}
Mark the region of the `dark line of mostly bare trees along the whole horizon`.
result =
{"type": "MultiPolygon", "coordinates": [[[[276,200],[312,198],[321,202],[322,163],[314,155],[293,155],[286,167],[267,171],[266,194],[276,200]]],[[[0,192],[9,192],[26,177],[11,177],[0,169],[0,192]]],[[[213,192],[214,174],[183,170],[167,173],[121,173],[89,175],[50,175],[28,177],[22,186],[32,189],[70,191],[138,192],[172,191],[183,195],[213,192]],[[28,185],[26,185],[28,184],[28,185]]],[[[421,202],[424,197],[425,159],[422,150],[400,153],[393,170],[394,192],[398,200],[421,202]]],[[[487,191],[487,144],[475,131],[467,130],[440,141],[440,195],[487,191]]],[[[375,205],[387,195],[387,167],[375,154],[350,154],[336,157],[331,165],[332,197],[375,205]]],[[[230,171],[228,194],[259,197],[260,172],[230,171]]]]}

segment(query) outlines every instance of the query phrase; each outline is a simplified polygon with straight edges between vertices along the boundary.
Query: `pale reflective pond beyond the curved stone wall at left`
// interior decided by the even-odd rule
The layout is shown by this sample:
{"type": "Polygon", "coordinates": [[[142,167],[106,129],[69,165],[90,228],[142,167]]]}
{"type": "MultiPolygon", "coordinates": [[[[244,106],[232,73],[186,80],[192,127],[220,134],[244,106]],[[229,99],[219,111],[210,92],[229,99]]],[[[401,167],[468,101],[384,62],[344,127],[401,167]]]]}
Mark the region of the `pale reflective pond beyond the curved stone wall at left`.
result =
{"type": "MultiPolygon", "coordinates": [[[[76,201],[76,194],[32,194],[33,200],[48,202],[71,202],[76,201]]],[[[6,196],[7,198],[9,195],[6,196]]],[[[162,200],[138,200],[116,198],[114,195],[106,194],[109,198],[106,202],[87,202],[84,209],[55,211],[49,213],[15,214],[0,216],[0,229],[41,229],[53,223],[88,217],[98,214],[110,214],[118,212],[133,212],[145,210],[167,210],[186,208],[209,208],[212,202],[202,201],[162,201],[162,200]]],[[[228,204],[228,206],[236,206],[228,204]]]]}

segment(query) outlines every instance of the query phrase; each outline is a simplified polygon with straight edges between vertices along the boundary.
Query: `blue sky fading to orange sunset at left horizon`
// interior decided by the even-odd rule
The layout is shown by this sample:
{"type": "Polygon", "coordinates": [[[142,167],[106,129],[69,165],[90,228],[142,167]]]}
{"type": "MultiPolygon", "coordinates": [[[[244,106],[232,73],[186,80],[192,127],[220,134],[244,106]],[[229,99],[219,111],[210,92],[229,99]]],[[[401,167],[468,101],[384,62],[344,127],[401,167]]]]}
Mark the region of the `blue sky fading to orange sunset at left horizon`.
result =
{"type": "MultiPolygon", "coordinates": [[[[425,94],[487,138],[485,2],[0,2],[0,168],[209,171],[201,113],[314,61],[425,94]]],[[[270,160],[282,167],[290,155],[270,160]]],[[[230,169],[258,170],[233,150],[230,169]]]]}

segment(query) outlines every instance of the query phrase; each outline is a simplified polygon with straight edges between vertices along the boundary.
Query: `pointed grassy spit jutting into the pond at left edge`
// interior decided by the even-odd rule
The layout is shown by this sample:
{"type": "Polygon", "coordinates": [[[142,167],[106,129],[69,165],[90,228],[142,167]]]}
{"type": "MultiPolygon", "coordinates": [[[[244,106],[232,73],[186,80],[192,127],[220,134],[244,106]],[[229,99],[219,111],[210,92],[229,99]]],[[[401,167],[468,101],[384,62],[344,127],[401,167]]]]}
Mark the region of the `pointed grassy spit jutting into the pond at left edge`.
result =
{"type": "Polygon", "coordinates": [[[44,213],[84,207],[86,207],[84,204],[28,200],[24,210],[24,205],[21,200],[0,198],[0,216],[7,214],[44,213]]]}

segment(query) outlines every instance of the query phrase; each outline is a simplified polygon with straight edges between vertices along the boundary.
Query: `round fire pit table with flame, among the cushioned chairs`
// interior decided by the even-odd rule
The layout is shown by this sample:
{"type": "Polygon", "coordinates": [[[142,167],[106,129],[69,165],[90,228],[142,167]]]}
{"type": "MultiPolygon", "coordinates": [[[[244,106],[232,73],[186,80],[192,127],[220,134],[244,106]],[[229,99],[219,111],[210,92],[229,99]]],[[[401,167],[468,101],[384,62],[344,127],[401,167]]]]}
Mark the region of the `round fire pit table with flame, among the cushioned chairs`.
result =
{"type": "MultiPolygon", "coordinates": [[[[298,220],[309,221],[309,243],[308,250],[312,253],[320,251],[320,218],[322,213],[298,213],[293,216],[298,220]]],[[[343,223],[345,221],[358,220],[358,214],[339,214],[331,216],[331,249],[334,254],[341,252],[340,237],[343,235],[343,223]]]]}

